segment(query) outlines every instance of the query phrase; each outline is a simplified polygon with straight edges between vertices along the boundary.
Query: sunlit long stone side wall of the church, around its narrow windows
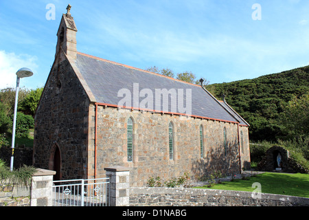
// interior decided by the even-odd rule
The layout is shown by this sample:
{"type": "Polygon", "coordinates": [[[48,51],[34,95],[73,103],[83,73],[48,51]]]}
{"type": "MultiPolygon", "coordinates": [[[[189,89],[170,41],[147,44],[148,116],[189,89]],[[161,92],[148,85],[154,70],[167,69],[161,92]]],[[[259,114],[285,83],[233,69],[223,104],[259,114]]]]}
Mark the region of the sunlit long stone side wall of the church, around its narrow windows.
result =
{"type": "MultiPolygon", "coordinates": [[[[93,108],[91,111],[95,111],[93,108]]],[[[90,113],[95,115],[95,113],[90,113]]],[[[130,167],[130,186],[144,186],[149,177],[168,180],[188,172],[207,175],[214,170],[240,172],[237,124],[183,118],[113,107],[98,107],[97,173],[104,167],[130,167]],[[133,118],[133,162],[127,162],[127,121],[133,118]],[[169,158],[168,124],[174,124],[174,159],[169,158]],[[204,158],[201,158],[199,126],[204,131],[204,158]],[[227,129],[227,156],[223,128],[227,129]]],[[[94,124],[94,123],[93,123],[94,124]]],[[[94,125],[90,128],[94,132],[94,125]]],[[[94,137],[94,135],[93,135],[94,137]]],[[[92,143],[93,140],[89,140],[92,143]]],[[[91,146],[89,146],[91,148],[91,146]]]]}

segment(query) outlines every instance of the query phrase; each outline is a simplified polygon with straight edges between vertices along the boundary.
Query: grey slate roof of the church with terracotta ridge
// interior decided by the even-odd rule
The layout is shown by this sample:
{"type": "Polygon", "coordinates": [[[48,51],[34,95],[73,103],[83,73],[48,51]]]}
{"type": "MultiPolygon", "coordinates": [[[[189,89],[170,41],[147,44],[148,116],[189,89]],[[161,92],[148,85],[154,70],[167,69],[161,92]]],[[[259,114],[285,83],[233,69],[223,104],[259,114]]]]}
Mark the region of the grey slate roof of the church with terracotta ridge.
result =
{"type": "MultiPolygon", "coordinates": [[[[183,91],[184,101],[183,107],[186,107],[186,94],[187,92],[192,92],[192,101],[188,102],[191,104],[191,112],[183,112],[183,110],[177,107],[176,102],[172,102],[170,99],[165,100],[161,98],[159,100],[161,105],[159,106],[161,111],[163,111],[163,105],[168,104],[169,113],[190,113],[192,116],[198,116],[201,118],[210,118],[216,120],[222,120],[227,122],[240,122],[241,125],[248,125],[242,118],[238,117],[235,113],[231,113],[228,109],[220,104],[214,96],[211,96],[209,92],[203,89],[199,85],[193,85],[191,83],[185,83],[180,80],[175,80],[174,78],[169,78],[155,74],[152,72],[147,72],[142,69],[137,69],[135,67],[129,67],[127,65],[122,65],[112,61],[106,61],[102,58],[97,58],[87,54],[82,54],[78,52],[76,58],[76,67],[82,77],[84,78],[84,83],[87,83],[87,87],[91,90],[91,93],[95,97],[95,101],[99,103],[106,103],[118,106],[119,101],[123,100],[124,95],[118,96],[118,91],[120,89],[127,89],[130,91],[131,98],[133,94],[137,94],[139,97],[139,91],[142,89],[148,89],[146,91],[152,91],[153,102],[152,109],[149,109],[146,105],[146,109],[154,110],[156,105],[156,90],[155,89],[175,89],[176,94],[180,96],[179,91],[183,91]],[[138,83],[138,84],[135,84],[138,83]],[[135,89],[138,85],[138,92],[133,92],[133,85],[135,84],[135,89]],[[175,109],[171,108],[171,104],[176,106],[175,109]]],[[[123,91],[123,90],[122,90],[123,91]]],[[[146,96],[147,97],[147,96],[146,96]]],[[[139,102],[146,98],[139,97],[139,102]]],[[[189,96],[190,97],[190,96],[189,96]]],[[[152,99],[151,99],[152,100],[152,99]]],[[[175,99],[174,99],[175,100],[175,99]]],[[[177,99],[179,100],[179,99],[177,99]]],[[[138,107],[136,104],[126,103],[126,107],[138,107]]],[[[151,104],[150,104],[151,107],[151,104]]],[[[187,109],[190,107],[188,106],[187,109]]],[[[159,109],[156,109],[159,110],[159,109]]]]}

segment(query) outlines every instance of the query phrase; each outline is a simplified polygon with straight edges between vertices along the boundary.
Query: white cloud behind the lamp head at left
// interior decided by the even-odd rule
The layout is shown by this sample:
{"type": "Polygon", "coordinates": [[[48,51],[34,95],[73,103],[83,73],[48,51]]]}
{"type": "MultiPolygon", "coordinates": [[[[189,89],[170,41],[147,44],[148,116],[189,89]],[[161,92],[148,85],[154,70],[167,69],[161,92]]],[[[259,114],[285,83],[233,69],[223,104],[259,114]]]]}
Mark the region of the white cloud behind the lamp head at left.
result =
{"type": "Polygon", "coordinates": [[[22,67],[27,67],[35,71],[37,57],[28,54],[8,53],[0,50],[0,89],[16,86],[16,72],[22,67]]]}

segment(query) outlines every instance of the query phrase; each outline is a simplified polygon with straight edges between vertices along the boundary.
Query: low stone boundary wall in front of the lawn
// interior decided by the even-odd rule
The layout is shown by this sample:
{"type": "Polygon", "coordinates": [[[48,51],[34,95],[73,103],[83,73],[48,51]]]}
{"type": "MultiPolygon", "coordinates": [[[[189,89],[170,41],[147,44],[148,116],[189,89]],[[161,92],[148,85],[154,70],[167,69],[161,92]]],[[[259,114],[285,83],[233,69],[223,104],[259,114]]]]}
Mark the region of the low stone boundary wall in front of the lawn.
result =
{"type": "Polygon", "coordinates": [[[130,188],[130,206],[309,206],[309,199],[198,188],[130,188]]]}

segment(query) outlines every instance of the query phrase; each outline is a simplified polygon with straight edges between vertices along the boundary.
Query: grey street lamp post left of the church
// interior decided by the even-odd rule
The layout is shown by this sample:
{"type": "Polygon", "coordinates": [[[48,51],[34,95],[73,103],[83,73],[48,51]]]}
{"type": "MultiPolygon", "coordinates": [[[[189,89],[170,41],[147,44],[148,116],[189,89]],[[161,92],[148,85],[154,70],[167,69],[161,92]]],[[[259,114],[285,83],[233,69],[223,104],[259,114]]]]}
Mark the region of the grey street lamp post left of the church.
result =
{"type": "Polygon", "coordinates": [[[14,164],[14,144],[15,144],[15,129],[16,129],[16,113],[17,113],[17,102],[19,99],[19,79],[32,76],[33,72],[28,68],[21,68],[16,72],[17,80],[16,80],[16,94],[15,94],[15,107],[14,107],[14,120],[13,120],[13,134],[12,134],[12,156],[11,156],[11,164],[10,170],[13,170],[14,164]]]}

